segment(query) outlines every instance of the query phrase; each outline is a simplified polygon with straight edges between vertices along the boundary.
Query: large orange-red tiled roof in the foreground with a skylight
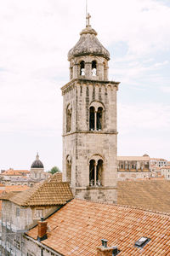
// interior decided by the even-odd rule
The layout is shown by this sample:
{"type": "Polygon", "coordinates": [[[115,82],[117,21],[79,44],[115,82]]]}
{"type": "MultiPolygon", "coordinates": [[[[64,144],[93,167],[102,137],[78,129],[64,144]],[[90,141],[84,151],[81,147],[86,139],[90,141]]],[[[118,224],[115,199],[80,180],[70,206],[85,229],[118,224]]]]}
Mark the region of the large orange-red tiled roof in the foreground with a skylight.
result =
{"type": "MultiPolygon", "coordinates": [[[[119,255],[170,255],[170,216],[145,212],[133,207],[74,199],[47,218],[48,239],[42,244],[62,255],[96,255],[101,239],[117,246],[119,255]],[[146,236],[144,248],[135,241],[146,236]]],[[[37,239],[37,227],[28,232],[37,239]]]]}

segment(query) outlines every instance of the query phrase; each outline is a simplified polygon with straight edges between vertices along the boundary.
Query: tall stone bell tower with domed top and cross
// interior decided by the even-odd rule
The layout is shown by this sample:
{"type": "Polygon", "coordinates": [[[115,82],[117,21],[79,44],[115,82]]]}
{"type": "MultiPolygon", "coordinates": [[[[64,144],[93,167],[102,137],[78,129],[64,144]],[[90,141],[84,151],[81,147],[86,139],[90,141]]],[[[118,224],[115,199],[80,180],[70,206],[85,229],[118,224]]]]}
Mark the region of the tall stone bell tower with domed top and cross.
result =
{"type": "Polygon", "coordinates": [[[116,202],[116,91],[110,54],[89,24],[68,53],[63,95],[63,180],[77,198],[116,202]]]}

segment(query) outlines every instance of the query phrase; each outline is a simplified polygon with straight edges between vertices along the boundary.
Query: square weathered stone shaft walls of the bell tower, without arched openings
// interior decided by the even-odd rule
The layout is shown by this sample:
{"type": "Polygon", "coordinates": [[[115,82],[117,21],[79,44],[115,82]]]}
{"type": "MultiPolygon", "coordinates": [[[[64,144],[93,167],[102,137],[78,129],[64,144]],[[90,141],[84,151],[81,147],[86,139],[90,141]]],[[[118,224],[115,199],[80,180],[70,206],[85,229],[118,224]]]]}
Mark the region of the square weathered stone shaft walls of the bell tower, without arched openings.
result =
{"type": "MultiPolygon", "coordinates": [[[[74,194],[76,188],[84,189],[89,185],[89,160],[94,155],[99,155],[104,161],[102,185],[116,187],[116,90],[116,84],[86,80],[77,80],[63,88],[63,179],[66,181],[66,158],[70,155],[71,187],[74,194]],[[104,126],[101,131],[89,131],[89,107],[92,102],[99,102],[104,109],[104,126]],[[69,104],[72,108],[71,131],[66,132],[66,108],[69,104]]],[[[104,193],[109,195],[112,192],[105,190],[104,193]]],[[[89,197],[95,197],[96,201],[99,197],[97,194],[91,192],[89,197]]],[[[115,196],[114,192],[111,201],[116,201],[115,196]]]]}

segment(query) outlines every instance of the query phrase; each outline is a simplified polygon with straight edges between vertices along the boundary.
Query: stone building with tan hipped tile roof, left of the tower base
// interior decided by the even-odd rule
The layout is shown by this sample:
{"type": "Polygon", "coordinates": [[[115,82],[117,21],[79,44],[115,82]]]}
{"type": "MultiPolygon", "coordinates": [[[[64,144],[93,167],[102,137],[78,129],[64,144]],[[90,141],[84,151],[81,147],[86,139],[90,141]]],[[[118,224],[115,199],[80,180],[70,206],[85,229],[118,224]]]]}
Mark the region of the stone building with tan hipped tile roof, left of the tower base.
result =
{"type": "MultiPolygon", "coordinates": [[[[30,243],[25,240],[24,234],[37,225],[40,218],[48,218],[72,198],[69,184],[60,182],[57,174],[31,189],[1,195],[0,255],[42,255],[37,253],[41,253],[37,244],[29,247],[30,243]]],[[[53,255],[49,251],[46,251],[47,255],[53,255]]]]}

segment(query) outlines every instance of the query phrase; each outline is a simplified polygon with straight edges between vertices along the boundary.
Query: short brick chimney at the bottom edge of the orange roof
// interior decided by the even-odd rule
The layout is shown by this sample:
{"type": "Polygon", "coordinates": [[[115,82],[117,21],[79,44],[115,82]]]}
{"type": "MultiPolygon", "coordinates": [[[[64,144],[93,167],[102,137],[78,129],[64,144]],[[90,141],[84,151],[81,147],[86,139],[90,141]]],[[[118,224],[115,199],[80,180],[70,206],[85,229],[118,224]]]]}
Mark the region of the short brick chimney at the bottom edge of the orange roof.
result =
{"type": "Polygon", "coordinates": [[[97,247],[97,256],[116,256],[120,251],[117,247],[107,247],[107,240],[102,239],[102,246],[97,247]]]}

